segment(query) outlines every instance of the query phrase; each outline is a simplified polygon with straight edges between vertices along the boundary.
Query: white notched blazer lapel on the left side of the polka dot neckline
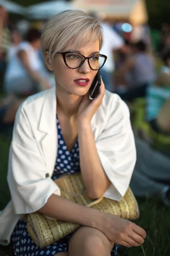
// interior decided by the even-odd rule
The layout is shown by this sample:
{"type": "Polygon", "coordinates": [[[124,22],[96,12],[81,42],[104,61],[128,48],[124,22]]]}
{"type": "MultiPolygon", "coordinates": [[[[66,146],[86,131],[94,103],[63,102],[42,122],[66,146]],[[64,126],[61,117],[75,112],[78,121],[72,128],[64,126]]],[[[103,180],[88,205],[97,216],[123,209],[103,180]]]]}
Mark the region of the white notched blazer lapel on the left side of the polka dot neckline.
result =
{"type": "Polygon", "coordinates": [[[56,90],[52,87],[45,96],[39,124],[39,131],[43,132],[40,144],[47,166],[47,175],[49,174],[50,177],[54,172],[58,147],[56,109],[56,90]]]}

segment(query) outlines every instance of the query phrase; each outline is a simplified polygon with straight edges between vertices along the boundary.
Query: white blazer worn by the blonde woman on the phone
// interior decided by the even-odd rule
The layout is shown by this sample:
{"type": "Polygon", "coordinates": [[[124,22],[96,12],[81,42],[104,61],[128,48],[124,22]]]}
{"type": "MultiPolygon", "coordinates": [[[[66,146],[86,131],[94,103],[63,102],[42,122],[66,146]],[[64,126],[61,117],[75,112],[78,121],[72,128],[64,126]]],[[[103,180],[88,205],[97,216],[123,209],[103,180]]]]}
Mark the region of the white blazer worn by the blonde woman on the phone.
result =
{"type": "MultiPolygon", "coordinates": [[[[0,243],[10,243],[22,214],[45,205],[59,187],[51,179],[57,157],[55,87],[28,97],[17,111],[8,162],[11,201],[0,215],[0,243]],[[49,176],[49,177],[48,177],[49,176]]],[[[116,94],[105,92],[91,120],[102,166],[111,181],[104,196],[121,200],[136,163],[136,148],[129,110],[116,94]]]]}

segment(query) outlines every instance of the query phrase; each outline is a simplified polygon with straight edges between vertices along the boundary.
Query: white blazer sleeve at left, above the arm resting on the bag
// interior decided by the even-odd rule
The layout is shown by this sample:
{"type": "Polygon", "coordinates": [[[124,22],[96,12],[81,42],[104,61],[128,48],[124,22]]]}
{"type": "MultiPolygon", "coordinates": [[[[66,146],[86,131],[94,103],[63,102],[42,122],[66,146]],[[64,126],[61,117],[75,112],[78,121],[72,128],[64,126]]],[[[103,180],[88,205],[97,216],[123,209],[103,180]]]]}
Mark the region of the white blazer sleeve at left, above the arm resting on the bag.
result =
{"type": "Polygon", "coordinates": [[[14,123],[8,161],[8,185],[17,214],[35,212],[45,205],[59,187],[50,177],[40,154],[24,108],[20,107],[14,123]]]}

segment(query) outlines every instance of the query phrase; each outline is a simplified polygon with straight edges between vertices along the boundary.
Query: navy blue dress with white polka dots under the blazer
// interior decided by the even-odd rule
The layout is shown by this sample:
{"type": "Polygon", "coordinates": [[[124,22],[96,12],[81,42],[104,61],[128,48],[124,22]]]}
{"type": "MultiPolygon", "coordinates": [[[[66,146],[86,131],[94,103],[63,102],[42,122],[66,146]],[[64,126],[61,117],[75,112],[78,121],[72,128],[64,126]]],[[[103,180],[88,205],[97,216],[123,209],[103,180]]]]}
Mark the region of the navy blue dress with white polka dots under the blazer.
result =
{"type": "MultiPolygon", "coordinates": [[[[57,118],[57,130],[58,130],[58,154],[56,159],[56,164],[54,168],[54,173],[52,179],[55,180],[63,174],[73,174],[80,172],[79,166],[79,144],[78,139],[74,144],[71,152],[68,151],[67,146],[62,137],[61,127],[59,125],[59,120],[57,118]]],[[[72,233],[73,234],[73,233],[72,233]]],[[[71,235],[66,236],[65,238],[54,242],[53,244],[40,249],[34,241],[31,239],[31,236],[27,232],[27,223],[25,220],[18,221],[12,236],[11,244],[14,249],[14,254],[16,256],[53,256],[56,253],[64,252],[68,250],[68,239],[71,235]]],[[[112,256],[117,256],[118,245],[115,244],[112,256]]]]}

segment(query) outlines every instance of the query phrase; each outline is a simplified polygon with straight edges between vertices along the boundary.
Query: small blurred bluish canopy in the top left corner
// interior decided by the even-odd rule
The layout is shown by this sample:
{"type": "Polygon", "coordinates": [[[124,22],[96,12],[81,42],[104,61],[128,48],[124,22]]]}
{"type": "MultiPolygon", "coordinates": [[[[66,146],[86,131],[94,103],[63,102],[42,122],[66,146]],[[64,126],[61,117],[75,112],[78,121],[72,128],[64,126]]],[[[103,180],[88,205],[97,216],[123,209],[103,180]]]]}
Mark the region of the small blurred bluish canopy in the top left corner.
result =
{"type": "Polygon", "coordinates": [[[26,9],[17,3],[8,0],[0,0],[0,5],[4,6],[8,12],[13,12],[21,15],[25,14],[26,9]]]}

